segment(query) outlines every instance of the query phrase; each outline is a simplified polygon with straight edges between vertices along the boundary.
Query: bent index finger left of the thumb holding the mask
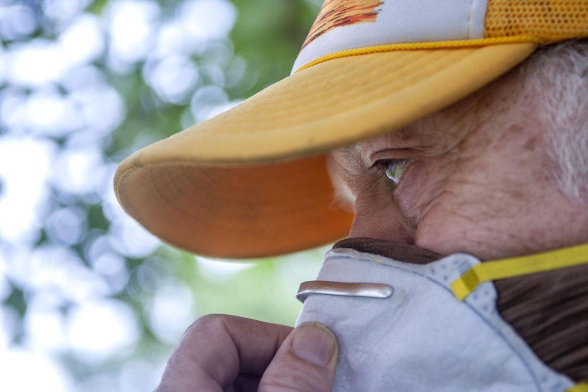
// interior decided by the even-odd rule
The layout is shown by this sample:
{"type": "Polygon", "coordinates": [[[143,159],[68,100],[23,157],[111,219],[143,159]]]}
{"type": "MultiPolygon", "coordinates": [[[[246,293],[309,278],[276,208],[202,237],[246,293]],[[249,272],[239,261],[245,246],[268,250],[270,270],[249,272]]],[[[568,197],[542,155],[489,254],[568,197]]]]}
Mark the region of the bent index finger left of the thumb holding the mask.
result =
{"type": "Polygon", "coordinates": [[[184,333],[157,392],[221,392],[239,373],[261,376],[292,327],[211,314],[184,333]]]}

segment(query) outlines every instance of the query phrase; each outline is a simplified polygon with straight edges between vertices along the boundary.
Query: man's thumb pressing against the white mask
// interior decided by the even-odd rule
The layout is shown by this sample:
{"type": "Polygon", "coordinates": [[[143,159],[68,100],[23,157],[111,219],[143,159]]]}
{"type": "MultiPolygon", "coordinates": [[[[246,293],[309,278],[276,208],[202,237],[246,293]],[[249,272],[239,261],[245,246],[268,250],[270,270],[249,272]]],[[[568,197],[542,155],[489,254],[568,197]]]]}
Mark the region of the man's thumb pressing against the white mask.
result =
{"type": "Polygon", "coordinates": [[[259,382],[259,392],[331,392],[339,346],[323,324],[300,324],[283,341],[259,382]]]}

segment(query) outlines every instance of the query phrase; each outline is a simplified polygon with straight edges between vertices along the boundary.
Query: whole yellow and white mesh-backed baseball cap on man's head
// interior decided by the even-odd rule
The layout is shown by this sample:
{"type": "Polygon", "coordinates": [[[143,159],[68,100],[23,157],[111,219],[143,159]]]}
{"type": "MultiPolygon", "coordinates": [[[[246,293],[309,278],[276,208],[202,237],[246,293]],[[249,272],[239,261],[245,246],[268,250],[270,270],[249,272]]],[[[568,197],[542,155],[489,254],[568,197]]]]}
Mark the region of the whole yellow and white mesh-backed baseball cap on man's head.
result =
{"type": "Polygon", "coordinates": [[[588,0],[326,0],[292,75],[125,159],[123,209],[212,257],[345,237],[325,152],[469,95],[540,45],[588,36],[588,0]]]}

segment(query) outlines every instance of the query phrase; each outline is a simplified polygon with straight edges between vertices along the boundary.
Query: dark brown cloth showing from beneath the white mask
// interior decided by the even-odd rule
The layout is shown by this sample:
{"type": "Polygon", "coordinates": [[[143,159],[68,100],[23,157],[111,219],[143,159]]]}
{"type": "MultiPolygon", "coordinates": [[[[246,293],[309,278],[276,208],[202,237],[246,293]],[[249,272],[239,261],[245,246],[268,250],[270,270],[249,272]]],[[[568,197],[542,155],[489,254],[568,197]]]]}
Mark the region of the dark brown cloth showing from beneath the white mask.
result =
{"type": "MultiPolygon", "coordinates": [[[[355,237],[333,248],[426,264],[443,256],[419,247],[355,237]]],[[[574,381],[588,380],[588,264],[494,282],[500,316],[540,360],[574,381]]]]}

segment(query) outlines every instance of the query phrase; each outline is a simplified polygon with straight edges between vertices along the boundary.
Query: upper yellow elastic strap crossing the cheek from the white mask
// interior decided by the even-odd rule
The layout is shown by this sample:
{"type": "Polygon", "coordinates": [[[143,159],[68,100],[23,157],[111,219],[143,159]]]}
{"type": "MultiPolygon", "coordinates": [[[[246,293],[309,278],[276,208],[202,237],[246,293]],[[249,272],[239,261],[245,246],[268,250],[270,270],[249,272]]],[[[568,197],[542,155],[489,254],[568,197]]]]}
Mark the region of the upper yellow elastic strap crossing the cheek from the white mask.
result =
{"type": "MultiPolygon", "coordinates": [[[[588,263],[588,244],[531,254],[530,256],[493,260],[476,264],[467,270],[451,284],[451,289],[457,299],[463,301],[482,282],[550,271],[584,263],[588,263]]],[[[573,391],[576,392],[576,390],[573,391]]],[[[577,391],[588,390],[579,389],[577,391]]]]}

